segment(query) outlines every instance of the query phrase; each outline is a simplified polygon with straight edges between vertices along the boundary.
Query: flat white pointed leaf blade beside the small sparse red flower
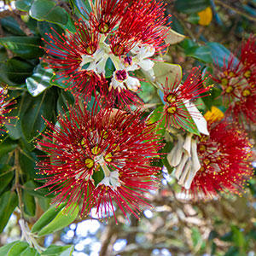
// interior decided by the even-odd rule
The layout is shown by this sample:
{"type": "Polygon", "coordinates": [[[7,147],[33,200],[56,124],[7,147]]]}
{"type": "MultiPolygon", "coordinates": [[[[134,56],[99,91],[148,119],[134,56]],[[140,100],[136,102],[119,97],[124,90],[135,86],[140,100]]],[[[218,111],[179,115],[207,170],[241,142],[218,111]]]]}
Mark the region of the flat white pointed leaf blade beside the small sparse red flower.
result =
{"type": "Polygon", "coordinates": [[[202,134],[209,135],[209,131],[207,129],[207,120],[203,117],[200,111],[192,102],[185,102],[185,106],[188,108],[188,111],[194,120],[198,131],[200,131],[202,134]]]}

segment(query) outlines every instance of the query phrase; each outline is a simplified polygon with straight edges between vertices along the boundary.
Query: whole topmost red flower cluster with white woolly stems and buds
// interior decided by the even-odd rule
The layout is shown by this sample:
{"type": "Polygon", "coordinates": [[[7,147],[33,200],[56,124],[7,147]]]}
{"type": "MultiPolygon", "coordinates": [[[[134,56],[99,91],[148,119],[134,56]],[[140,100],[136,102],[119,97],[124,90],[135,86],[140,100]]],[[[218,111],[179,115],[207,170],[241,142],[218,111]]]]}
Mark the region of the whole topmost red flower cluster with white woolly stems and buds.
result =
{"type": "Polygon", "coordinates": [[[140,81],[131,73],[142,69],[154,78],[150,58],[166,48],[165,4],[96,0],[90,5],[90,19],[75,22],[76,32],[47,34],[50,39],[44,40],[48,44],[44,61],[59,70],[76,96],[89,101],[92,95],[112,102],[117,99],[121,106],[141,104],[136,94],[140,81]],[[106,79],[111,79],[109,87],[106,79]]]}

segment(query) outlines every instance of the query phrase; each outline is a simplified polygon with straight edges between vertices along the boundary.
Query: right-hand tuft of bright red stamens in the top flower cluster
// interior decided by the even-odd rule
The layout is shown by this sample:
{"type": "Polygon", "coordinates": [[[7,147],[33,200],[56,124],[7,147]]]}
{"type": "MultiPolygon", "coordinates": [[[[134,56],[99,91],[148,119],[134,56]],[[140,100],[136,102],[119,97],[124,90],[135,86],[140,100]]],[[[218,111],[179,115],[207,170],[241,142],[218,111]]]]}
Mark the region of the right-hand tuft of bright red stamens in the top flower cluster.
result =
{"type": "Polygon", "coordinates": [[[166,47],[165,4],[155,0],[133,1],[110,38],[114,55],[127,54],[136,44],[149,44],[156,50],[166,47]]]}

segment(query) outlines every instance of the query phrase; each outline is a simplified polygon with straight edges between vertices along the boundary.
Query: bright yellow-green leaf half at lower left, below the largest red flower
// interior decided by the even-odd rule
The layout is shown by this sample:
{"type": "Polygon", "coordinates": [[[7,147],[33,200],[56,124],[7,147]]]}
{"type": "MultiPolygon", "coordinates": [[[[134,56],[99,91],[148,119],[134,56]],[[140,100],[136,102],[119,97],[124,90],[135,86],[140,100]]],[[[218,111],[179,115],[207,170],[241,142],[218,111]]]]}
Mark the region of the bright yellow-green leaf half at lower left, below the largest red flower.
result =
{"type": "Polygon", "coordinates": [[[38,232],[38,236],[46,236],[71,224],[79,215],[79,206],[74,203],[70,207],[64,207],[56,217],[38,232]]]}

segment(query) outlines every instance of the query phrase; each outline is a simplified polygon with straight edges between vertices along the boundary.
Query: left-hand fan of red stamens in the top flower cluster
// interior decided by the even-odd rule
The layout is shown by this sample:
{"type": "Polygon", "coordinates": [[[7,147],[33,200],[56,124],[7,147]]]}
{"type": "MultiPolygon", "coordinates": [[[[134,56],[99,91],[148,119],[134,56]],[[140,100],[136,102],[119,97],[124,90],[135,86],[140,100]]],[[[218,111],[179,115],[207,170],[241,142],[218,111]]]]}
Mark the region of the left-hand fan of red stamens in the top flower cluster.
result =
{"type": "Polygon", "coordinates": [[[99,36],[96,30],[90,29],[83,20],[75,23],[76,32],[67,35],[46,34],[51,39],[46,44],[47,57],[44,59],[50,68],[58,68],[59,76],[57,79],[63,79],[64,84],[69,84],[68,90],[72,90],[74,95],[83,96],[90,101],[92,94],[96,95],[96,90],[100,95],[105,95],[106,80],[90,68],[85,69],[86,61],[84,56],[89,56],[91,60],[96,58],[99,36]]]}

